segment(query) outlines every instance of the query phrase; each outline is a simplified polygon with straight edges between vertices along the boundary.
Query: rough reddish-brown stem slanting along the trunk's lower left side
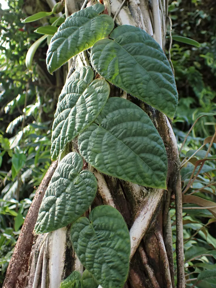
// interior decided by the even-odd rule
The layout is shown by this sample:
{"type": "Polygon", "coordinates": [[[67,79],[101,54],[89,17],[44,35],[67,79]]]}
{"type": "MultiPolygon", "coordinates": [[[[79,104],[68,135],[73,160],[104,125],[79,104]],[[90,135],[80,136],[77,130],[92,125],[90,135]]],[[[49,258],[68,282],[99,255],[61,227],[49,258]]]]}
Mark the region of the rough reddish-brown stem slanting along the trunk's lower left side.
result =
{"type": "Polygon", "coordinates": [[[16,243],[14,253],[7,268],[7,274],[3,288],[23,288],[28,271],[28,261],[33,244],[33,230],[37,221],[37,215],[44,193],[50,179],[56,170],[58,161],[52,162],[41,184],[39,185],[29,211],[26,215],[20,236],[16,243]]]}

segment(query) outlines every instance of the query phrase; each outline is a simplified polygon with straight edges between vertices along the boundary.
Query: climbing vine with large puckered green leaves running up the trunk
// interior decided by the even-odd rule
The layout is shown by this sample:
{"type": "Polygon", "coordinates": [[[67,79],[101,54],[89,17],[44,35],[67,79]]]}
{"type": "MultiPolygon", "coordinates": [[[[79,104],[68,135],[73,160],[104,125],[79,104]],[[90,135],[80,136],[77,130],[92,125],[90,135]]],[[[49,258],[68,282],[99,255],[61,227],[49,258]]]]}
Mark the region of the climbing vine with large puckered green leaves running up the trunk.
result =
{"type": "Polygon", "coordinates": [[[46,58],[53,73],[92,47],[92,67],[103,77],[94,79],[91,67],[75,71],[59,96],[52,127],[51,156],[59,163],[41,203],[35,233],[72,223],[73,248],[86,268],[82,278],[74,271],[62,288],[87,288],[87,278],[92,287],[121,288],[129,269],[130,236],[122,215],[103,205],[88,218],[81,217],[97,190],[93,173],[82,170],[82,157],[101,173],[166,189],[167,156],[158,131],[137,105],[109,98],[108,82],[172,119],[178,103],[172,69],[159,44],[145,31],[129,25],[113,30],[111,16],[101,14],[104,9],[98,3],[68,17],[52,37],[46,58]],[[75,137],[82,157],[67,151],[75,137]]]}

